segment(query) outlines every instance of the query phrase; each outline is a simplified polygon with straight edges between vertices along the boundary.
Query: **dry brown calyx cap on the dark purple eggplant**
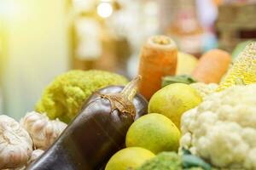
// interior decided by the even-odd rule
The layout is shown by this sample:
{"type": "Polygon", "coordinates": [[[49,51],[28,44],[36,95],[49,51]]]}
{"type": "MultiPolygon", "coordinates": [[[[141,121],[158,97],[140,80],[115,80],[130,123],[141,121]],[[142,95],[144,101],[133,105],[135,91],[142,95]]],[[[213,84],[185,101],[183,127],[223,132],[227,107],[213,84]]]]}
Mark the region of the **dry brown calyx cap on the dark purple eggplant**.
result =
{"type": "Polygon", "coordinates": [[[123,114],[130,114],[132,118],[135,119],[135,106],[130,100],[124,98],[122,94],[101,94],[101,98],[109,100],[111,113],[113,110],[118,110],[123,114]]]}

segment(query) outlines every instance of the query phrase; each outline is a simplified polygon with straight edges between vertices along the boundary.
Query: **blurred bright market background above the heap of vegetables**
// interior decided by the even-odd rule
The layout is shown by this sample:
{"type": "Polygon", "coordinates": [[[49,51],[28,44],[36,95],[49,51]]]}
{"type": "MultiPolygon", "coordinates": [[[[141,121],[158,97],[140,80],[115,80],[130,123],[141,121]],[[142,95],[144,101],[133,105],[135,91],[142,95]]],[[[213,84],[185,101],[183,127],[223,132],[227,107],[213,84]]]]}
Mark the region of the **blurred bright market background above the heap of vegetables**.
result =
{"type": "Polygon", "coordinates": [[[256,38],[255,15],[255,0],[0,0],[0,113],[32,111],[70,69],[134,77],[155,34],[198,58],[211,48],[232,53],[256,38]]]}

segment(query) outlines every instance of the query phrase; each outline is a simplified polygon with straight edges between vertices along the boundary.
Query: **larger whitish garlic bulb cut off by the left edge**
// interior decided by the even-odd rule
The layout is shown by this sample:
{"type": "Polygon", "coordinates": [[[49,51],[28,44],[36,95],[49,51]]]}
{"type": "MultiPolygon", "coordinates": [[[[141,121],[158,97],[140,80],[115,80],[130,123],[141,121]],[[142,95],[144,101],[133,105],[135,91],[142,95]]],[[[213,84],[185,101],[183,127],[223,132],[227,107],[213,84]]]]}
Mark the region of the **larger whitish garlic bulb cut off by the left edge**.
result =
{"type": "Polygon", "coordinates": [[[0,169],[22,167],[32,155],[32,139],[9,116],[0,116],[0,169]]]}

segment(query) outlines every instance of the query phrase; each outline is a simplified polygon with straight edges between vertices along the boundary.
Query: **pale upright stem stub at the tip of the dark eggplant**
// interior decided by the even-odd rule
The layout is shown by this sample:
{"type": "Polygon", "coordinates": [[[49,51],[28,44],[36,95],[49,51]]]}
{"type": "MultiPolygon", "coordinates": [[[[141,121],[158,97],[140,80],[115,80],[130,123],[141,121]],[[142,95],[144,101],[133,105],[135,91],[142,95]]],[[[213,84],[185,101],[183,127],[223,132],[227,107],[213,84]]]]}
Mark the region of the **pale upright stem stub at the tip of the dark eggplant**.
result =
{"type": "Polygon", "coordinates": [[[129,82],[122,90],[121,94],[123,97],[132,102],[134,96],[137,94],[137,85],[141,82],[142,76],[137,76],[131,82],[129,82]]]}

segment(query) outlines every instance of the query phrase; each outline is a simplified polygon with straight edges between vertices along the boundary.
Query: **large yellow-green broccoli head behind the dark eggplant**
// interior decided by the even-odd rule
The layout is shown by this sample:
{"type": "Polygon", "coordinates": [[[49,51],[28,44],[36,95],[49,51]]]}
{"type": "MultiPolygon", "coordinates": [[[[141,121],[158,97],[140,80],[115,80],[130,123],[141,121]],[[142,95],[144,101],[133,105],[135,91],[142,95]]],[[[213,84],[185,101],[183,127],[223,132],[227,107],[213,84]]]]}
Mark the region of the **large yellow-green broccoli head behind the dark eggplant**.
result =
{"type": "Polygon", "coordinates": [[[36,111],[46,113],[50,119],[70,122],[84,101],[96,90],[109,85],[125,85],[125,77],[108,71],[67,71],[44,89],[36,111]]]}

